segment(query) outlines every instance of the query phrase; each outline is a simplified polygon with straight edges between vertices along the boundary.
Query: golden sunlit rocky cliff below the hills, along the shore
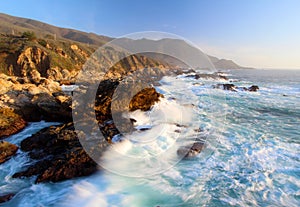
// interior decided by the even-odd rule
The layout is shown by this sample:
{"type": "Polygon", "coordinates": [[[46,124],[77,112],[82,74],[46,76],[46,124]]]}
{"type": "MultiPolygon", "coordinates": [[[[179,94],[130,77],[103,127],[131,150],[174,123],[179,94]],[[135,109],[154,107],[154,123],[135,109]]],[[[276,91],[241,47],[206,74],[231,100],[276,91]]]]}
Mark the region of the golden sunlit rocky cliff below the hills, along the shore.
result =
{"type": "MultiPolygon", "coordinates": [[[[41,78],[74,82],[78,72],[95,49],[95,46],[67,40],[28,39],[24,35],[1,34],[0,72],[22,77],[25,82],[35,83],[41,78]]],[[[117,55],[119,53],[121,52],[114,52],[117,55]]],[[[105,66],[110,56],[111,53],[107,52],[98,61],[105,66]]],[[[156,61],[143,55],[131,55],[114,65],[110,76],[122,76],[128,71],[148,66],[170,68],[163,61],[156,61]]]]}

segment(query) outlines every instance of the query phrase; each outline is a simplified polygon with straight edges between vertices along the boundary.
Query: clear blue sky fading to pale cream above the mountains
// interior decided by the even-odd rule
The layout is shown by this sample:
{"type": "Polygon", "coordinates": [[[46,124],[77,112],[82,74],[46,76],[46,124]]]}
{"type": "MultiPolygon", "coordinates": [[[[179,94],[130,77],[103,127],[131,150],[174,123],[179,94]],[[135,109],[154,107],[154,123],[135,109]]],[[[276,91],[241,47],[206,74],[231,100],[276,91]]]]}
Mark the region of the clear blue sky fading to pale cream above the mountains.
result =
{"type": "Polygon", "coordinates": [[[299,0],[0,0],[0,12],[120,37],[170,32],[256,68],[300,69],[299,0]]]}

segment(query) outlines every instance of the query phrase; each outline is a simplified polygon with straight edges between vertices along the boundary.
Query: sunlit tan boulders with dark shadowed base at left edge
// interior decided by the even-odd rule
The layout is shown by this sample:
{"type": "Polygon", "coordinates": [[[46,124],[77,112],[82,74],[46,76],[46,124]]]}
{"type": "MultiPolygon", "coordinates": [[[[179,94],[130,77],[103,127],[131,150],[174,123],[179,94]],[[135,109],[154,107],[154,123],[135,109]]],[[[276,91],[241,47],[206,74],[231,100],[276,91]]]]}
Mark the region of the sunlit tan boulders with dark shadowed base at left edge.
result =
{"type": "MultiPolygon", "coordinates": [[[[0,108],[8,108],[25,121],[72,120],[71,97],[61,91],[55,81],[42,79],[39,83],[22,83],[22,78],[0,76],[0,108]]],[[[0,115],[3,114],[0,112],[0,115]]],[[[12,125],[13,126],[13,125],[12,125]]]]}

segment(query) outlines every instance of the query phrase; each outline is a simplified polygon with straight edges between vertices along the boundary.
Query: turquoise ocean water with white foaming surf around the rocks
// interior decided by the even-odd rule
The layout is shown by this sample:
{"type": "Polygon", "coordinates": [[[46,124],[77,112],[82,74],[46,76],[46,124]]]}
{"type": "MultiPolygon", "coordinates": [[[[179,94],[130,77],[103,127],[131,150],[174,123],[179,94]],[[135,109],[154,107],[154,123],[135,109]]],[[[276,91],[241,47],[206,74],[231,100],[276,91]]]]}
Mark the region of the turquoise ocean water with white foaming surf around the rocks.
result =
{"type": "MultiPolygon", "coordinates": [[[[157,90],[165,98],[154,106],[152,115],[130,114],[139,126],[151,129],[133,133],[122,142],[116,149],[120,157],[108,151],[103,158],[107,171],[60,183],[33,184],[33,178],[11,178],[30,162],[25,153],[19,153],[0,165],[0,192],[18,192],[0,206],[300,206],[300,70],[226,73],[230,81],[164,77],[157,90]],[[220,81],[260,89],[213,89],[220,81]],[[176,139],[178,131],[180,140],[176,139]],[[198,137],[206,140],[198,156],[152,176],[130,176],[149,171],[155,163],[169,164],[175,156],[166,150],[169,146],[185,146],[198,137]],[[152,141],[141,144],[143,140],[152,141]],[[132,156],[149,157],[149,162],[120,159],[132,156]]],[[[32,123],[8,141],[19,144],[52,124],[32,123]]]]}

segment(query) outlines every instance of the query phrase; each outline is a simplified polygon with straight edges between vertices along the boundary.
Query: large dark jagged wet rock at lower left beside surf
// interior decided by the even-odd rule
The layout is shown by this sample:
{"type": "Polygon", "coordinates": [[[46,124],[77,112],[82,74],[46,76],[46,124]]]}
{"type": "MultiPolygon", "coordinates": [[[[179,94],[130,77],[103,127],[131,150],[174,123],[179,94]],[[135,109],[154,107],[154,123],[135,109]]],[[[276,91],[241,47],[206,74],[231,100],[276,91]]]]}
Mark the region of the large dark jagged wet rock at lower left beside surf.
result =
{"type": "Polygon", "coordinates": [[[96,162],[82,148],[72,123],[45,128],[21,142],[21,150],[37,160],[14,178],[37,176],[36,182],[58,182],[90,175],[96,162]]]}

